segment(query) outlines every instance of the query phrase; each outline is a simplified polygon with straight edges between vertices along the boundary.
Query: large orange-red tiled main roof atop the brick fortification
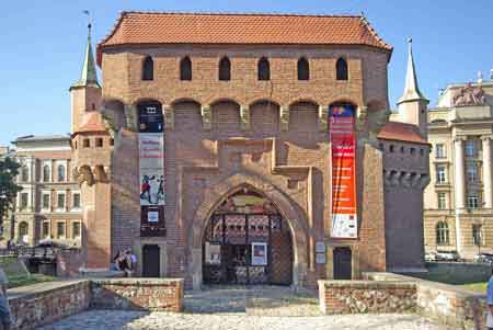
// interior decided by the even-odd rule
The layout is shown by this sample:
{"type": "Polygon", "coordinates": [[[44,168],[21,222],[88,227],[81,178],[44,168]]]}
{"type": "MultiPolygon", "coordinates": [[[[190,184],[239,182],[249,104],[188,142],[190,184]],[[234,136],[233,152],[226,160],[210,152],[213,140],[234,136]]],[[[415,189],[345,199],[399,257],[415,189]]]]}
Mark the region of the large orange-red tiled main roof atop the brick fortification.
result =
{"type": "Polygon", "coordinates": [[[123,12],[98,45],[291,44],[365,45],[391,53],[364,16],[123,12]]]}

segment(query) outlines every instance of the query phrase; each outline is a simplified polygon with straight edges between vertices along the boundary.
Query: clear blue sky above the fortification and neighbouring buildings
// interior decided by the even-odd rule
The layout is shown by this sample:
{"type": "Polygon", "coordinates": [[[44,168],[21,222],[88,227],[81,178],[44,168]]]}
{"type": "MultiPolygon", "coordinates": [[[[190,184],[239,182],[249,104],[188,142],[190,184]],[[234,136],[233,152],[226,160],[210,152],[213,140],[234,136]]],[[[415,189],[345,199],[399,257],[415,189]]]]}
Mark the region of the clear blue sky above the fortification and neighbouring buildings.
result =
{"type": "MultiPolygon", "coordinates": [[[[70,130],[68,88],[80,75],[87,36],[83,10],[101,41],[122,10],[358,14],[394,47],[389,65],[392,109],[404,84],[408,36],[421,90],[436,104],[447,83],[490,77],[493,1],[215,0],[3,1],[0,12],[0,145],[22,135],[70,130]]],[[[101,78],[101,76],[100,76],[101,78]]]]}

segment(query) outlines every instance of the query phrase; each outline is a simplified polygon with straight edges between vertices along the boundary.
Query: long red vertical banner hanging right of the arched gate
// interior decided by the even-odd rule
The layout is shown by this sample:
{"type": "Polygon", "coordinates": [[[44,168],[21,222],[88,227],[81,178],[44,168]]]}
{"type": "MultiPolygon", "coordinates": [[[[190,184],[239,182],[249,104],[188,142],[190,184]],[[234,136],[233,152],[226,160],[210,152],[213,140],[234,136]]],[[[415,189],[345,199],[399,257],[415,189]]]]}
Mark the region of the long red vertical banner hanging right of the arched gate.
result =
{"type": "Polygon", "coordinates": [[[357,238],[355,106],[330,106],[332,238],[357,238]]]}

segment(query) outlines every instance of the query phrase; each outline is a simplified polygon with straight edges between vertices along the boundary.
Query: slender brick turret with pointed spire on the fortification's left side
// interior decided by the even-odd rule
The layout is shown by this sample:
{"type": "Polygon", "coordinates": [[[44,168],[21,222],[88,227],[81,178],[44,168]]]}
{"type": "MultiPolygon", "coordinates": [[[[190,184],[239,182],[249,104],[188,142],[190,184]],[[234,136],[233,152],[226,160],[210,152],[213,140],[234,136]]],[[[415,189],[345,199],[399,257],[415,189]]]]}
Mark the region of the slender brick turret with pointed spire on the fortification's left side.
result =
{"type": "Polygon", "coordinates": [[[91,47],[91,24],[79,81],[70,87],[73,175],[81,185],[85,269],[107,269],[111,260],[110,167],[113,139],[99,111],[101,86],[91,47]]]}

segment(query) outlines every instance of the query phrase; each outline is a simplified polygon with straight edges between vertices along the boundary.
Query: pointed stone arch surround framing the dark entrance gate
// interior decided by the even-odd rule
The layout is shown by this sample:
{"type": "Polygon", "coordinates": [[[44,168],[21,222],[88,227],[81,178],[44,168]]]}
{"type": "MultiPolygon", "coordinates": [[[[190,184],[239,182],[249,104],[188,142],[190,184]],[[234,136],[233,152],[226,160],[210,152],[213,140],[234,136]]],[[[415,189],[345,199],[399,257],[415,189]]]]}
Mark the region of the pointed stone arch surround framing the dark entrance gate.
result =
{"type": "Polygon", "coordinates": [[[220,183],[209,185],[204,192],[206,196],[204,202],[196,209],[190,224],[188,247],[192,263],[188,273],[192,274],[193,287],[200,288],[203,282],[203,236],[209,217],[226,197],[243,187],[255,191],[272,201],[288,224],[293,239],[293,285],[302,285],[308,266],[306,216],[295,207],[294,202],[286,194],[273,184],[253,175],[237,173],[220,183]]]}

